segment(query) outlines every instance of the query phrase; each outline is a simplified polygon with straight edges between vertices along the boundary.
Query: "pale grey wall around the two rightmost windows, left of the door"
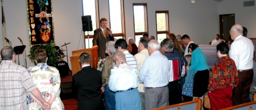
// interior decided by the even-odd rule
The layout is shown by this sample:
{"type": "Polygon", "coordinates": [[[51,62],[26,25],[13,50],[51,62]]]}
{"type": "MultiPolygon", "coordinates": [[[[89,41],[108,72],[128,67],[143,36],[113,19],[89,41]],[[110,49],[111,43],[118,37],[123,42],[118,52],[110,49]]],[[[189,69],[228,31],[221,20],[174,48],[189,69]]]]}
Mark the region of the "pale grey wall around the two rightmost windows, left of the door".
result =
{"type": "Polygon", "coordinates": [[[134,37],[133,3],[147,3],[148,35],[156,36],[155,11],[169,11],[170,32],[187,34],[197,44],[208,44],[218,33],[217,2],[197,0],[125,0],[126,38],[134,37]]]}

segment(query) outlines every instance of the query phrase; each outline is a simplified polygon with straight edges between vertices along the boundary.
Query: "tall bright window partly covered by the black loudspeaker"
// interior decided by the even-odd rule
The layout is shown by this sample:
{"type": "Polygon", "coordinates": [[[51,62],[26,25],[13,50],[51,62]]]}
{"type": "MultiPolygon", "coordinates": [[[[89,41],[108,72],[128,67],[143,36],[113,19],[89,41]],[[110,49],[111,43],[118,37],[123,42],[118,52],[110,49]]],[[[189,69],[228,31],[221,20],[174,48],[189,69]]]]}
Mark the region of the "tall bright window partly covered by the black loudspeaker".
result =
{"type": "MultiPolygon", "coordinates": [[[[93,30],[98,28],[98,0],[82,0],[82,15],[91,15],[93,30]]],[[[93,31],[84,32],[85,47],[92,48],[93,31]],[[89,34],[89,46],[88,46],[89,34]]]]}

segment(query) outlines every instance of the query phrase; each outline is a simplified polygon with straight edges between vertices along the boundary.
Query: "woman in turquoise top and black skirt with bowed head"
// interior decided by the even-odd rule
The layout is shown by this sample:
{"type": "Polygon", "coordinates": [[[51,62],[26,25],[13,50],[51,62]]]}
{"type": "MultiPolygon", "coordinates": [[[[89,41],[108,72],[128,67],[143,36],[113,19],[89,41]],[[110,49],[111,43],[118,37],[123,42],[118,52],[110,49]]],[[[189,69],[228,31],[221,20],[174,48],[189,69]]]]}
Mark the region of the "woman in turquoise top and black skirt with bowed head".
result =
{"type": "Polygon", "coordinates": [[[208,91],[209,67],[207,65],[207,57],[201,49],[194,43],[189,44],[188,52],[192,53],[191,66],[187,66],[187,70],[193,70],[195,73],[193,82],[193,99],[200,98],[208,91]]]}

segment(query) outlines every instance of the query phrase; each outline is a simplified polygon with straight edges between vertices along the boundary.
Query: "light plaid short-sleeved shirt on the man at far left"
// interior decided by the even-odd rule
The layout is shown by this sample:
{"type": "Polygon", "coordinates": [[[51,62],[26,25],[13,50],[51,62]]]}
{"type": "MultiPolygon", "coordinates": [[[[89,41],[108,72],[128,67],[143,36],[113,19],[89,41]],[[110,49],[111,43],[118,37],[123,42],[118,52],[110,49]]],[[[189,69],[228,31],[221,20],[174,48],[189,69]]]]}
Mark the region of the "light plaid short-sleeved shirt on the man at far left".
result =
{"type": "Polygon", "coordinates": [[[0,64],[0,109],[27,109],[27,92],[36,88],[27,69],[11,60],[0,64]]]}

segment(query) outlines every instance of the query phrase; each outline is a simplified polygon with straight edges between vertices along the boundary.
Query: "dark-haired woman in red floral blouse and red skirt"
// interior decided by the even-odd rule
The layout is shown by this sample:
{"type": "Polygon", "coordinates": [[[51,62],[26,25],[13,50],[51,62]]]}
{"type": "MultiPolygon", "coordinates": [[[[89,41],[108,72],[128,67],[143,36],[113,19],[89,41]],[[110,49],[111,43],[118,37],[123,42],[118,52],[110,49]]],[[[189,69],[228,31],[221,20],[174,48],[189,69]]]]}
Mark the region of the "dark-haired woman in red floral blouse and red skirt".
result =
{"type": "Polygon", "coordinates": [[[239,83],[235,62],[228,56],[229,45],[217,45],[219,59],[214,63],[210,73],[208,95],[211,109],[232,107],[232,90],[239,83]]]}

